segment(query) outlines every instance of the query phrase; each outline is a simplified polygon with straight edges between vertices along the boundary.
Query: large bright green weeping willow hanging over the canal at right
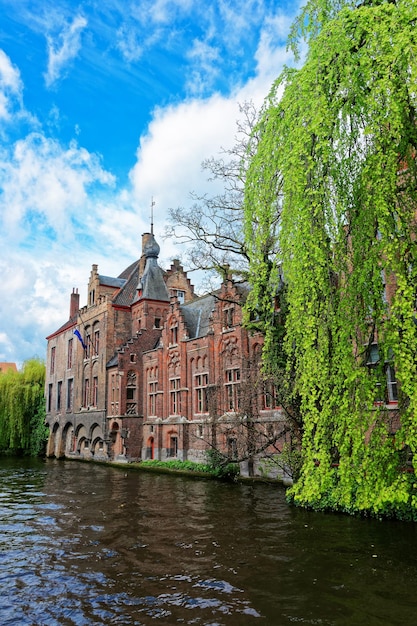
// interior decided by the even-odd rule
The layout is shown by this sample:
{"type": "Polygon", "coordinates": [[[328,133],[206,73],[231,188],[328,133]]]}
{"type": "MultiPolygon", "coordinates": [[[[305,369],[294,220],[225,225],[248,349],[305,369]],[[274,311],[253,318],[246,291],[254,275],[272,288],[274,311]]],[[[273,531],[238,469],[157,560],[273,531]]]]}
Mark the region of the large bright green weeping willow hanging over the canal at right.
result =
{"type": "Polygon", "coordinates": [[[277,280],[264,244],[280,213],[284,350],[303,424],[290,496],[417,519],[417,3],[310,0],[296,53],[301,37],[305,63],[272,88],[245,198],[267,361],[277,280]]]}

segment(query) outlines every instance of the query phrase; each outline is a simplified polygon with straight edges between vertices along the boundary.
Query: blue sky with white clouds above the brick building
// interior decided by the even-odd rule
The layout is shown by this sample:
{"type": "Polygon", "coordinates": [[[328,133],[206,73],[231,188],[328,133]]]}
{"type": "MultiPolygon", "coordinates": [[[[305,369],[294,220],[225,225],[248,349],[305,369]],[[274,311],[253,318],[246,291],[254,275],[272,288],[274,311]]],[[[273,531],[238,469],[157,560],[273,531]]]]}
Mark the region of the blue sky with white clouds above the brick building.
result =
{"type": "Polygon", "coordinates": [[[0,0],[0,362],[45,359],[91,266],[139,258],[152,201],[160,265],[181,259],[168,210],[213,192],[201,163],[292,64],[298,6],[0,0]]]}

